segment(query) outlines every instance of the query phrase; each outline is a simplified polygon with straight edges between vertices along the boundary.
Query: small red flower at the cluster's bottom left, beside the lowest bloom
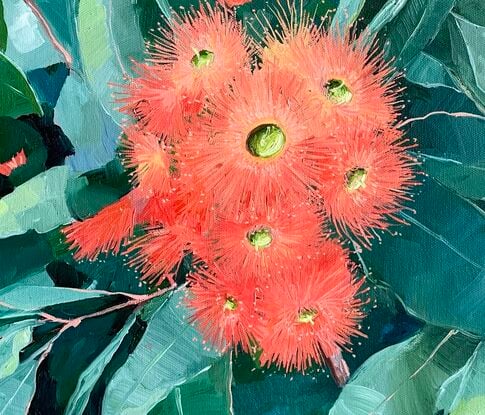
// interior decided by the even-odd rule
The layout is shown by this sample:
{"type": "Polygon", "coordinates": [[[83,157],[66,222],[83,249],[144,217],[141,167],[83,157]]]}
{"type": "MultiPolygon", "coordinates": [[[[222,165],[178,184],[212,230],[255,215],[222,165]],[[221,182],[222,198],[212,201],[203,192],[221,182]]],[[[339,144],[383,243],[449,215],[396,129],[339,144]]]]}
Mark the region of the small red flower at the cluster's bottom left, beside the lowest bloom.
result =
{"type": "Polygon", "coordinates": [[[200,269],[189,277],[188,304],[204,338],[217,349],[240,344],[243,350],[254,347],[254,333],[261,319],[254,310],[258,295],[256,279],[225,268],[200,269]]]}

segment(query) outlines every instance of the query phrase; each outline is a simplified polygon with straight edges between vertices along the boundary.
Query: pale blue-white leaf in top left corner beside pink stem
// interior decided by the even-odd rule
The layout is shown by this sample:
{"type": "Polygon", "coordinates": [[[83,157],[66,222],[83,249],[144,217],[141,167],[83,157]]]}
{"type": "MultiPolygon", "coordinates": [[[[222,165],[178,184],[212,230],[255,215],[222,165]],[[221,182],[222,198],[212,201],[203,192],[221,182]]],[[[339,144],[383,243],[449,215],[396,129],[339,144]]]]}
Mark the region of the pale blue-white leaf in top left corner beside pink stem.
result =
{"type": "Polygon", "coordinates": [[[24,0],[4,1],[4,17],[8,28],[5,54],[23,71],[63,61],[63,56],[53,46],[41,22],[24,0]]]}

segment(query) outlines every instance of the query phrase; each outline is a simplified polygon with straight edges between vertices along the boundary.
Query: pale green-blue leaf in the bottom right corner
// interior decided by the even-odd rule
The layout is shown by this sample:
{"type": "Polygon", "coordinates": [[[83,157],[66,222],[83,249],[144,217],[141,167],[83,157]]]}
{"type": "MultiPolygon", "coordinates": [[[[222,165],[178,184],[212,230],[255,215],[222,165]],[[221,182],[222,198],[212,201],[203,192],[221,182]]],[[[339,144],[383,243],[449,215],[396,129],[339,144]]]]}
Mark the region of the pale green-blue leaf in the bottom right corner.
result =
{"type": "Polygon", "coordinates": [[[484,380],[485,344],[481,342],[466,365],[441,385],[435,411],[453,415],[485,414],[484,380]]]}

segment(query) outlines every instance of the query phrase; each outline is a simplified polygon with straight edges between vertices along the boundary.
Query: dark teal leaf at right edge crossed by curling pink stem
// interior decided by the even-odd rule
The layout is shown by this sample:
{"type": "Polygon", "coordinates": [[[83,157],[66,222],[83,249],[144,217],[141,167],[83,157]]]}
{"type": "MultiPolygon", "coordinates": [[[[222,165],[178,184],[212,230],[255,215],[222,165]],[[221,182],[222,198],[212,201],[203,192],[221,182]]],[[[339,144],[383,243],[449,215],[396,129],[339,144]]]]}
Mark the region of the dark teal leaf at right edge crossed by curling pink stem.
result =
{"type": "Polygon", "coordinates": [[[407,135],[417,138],[421,169],[461,196],[482,199],[485,117],[463,93],[443,87],[415,90],[408,88],[407,110],[418,120],[407,135]],[[448,115],[455,113],[469,115],[448,115]]]}

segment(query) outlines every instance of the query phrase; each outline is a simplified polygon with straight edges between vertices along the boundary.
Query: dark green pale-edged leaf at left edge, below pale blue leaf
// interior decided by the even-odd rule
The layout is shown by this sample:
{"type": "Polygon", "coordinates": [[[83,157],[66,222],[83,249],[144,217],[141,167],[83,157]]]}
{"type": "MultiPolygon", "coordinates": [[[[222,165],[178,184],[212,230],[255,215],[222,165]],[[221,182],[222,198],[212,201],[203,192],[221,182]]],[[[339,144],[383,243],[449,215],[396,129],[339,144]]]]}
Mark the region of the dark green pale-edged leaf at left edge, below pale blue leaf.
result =
{"type": "Polygon", "coordinates": [[[0,116],[42,115],[27,78],[3,53],[0,53],[0,97],[0,116]]]}

